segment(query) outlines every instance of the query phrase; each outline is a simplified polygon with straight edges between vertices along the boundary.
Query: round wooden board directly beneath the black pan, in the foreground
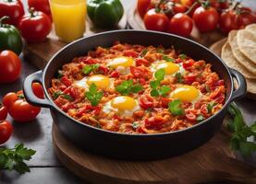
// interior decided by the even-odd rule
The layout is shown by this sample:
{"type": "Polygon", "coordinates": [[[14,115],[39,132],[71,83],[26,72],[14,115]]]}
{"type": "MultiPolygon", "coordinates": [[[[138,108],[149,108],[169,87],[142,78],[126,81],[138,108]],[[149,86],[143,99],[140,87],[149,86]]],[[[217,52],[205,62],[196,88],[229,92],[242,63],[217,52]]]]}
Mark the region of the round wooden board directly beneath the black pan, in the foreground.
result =
{"type": "Polygon", "coordinates": [[[231,155],[228,140],[229,135],[223,129],[209,143],[185,155],[131,162],[84,152],[67,141],[53,124],[55,154],[70,171],[91,183],[255,183],[256,169],[231,155]]]}

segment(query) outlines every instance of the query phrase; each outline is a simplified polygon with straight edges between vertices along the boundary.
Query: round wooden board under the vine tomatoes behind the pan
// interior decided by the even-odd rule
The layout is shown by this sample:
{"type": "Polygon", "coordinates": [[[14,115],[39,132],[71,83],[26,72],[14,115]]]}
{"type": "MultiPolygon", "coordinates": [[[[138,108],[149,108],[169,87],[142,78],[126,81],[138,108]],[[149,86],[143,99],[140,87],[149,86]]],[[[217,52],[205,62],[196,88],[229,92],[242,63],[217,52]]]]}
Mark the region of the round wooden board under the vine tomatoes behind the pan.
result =
{"type": "MultiPolygon", "coordinates": [[[[140,17],[136,4],[130,6],[128,9],[128,27],[130,29],[146,29],[144,26],[144,22],[140,17]]],[[[220,31],[214,30],[212,32],[201,33],[196,27],[194,26],[190,35],[191,40],[196,40],[197,42],[201,43],[202,45],[209,47],[215,41],[221,40],[225,37],[220,31]]]]}

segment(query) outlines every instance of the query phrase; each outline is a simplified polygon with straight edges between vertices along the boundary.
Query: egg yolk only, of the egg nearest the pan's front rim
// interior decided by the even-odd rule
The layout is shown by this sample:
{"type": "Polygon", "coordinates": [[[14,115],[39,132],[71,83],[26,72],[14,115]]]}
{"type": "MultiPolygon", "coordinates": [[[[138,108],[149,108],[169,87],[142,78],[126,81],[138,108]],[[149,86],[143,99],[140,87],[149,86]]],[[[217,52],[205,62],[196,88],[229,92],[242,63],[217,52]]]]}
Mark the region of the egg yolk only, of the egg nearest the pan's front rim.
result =
{"type": "Polygon", "coordinates": [[[131,110],[136,106],[136,101],[133,98],[120,96],[111,100],[111,106],[118,111],[131,110]]]}

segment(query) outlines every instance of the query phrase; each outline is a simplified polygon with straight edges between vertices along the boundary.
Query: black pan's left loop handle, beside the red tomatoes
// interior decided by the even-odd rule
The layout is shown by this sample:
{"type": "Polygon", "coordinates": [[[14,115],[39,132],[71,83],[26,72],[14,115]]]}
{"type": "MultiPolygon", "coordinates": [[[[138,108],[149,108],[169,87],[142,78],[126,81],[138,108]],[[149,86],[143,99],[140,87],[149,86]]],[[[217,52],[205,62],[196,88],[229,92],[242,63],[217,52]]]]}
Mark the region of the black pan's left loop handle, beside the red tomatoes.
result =
{"type": "Polygon", "coordinates": [[[44,99],[37,98],[33,93],[32,83],[39,82],[42,84],[42,75],[43,71],[41,70],[26,77],[22,86],[24,97],[31,105],[43,108],[53,108],[52,103],[46,98],[46,96],[44,99]]]}

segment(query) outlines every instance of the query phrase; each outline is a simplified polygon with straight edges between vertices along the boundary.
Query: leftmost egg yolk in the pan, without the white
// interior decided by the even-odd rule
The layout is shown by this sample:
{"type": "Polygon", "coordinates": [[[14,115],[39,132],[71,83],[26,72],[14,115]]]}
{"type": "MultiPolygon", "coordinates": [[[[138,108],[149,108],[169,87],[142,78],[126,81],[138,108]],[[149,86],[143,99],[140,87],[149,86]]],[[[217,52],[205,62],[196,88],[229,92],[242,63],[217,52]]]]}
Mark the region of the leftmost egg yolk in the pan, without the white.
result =
{"type": "Polygon", "coordinates": [[[92,83],[98,88],[105,89],[110,86],[110,79],[104,75],[91,75],[87,80],[87,84],[91,86],[92,83]]]}

